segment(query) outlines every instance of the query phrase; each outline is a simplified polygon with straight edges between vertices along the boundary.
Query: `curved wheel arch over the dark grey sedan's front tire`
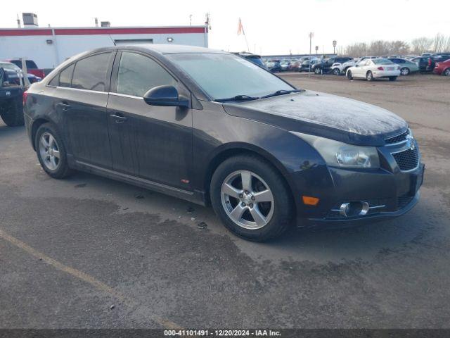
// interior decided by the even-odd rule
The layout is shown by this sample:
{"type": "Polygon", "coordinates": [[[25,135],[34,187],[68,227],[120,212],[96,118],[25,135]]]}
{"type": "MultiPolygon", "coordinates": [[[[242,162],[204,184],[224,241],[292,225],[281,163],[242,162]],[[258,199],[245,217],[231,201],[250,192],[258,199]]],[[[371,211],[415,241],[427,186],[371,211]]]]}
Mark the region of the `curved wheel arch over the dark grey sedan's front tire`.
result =
{"type": "Polygon", "coordinates": [[[269,163],[269,165],[271,165],[274,169],[276,169],[285,182],[286,187],[291,194],[291,197],[294,197],[293,184],[291,184],[288,178],[288,170],[286,170],[284,165],[280,161],[278,161],[275,156],[253,144],[233,142],[231,144],[223,144],[222,146],[219,146],[219,148],[214,151],[214,154],[210,156],[207,170],[205,170],[205,175],[203,176],[203,189],[205,191],[205,201],[207,202],[207,204],[210,204],[210,183],[212,175],[214,175],[214,172],[216,171],[217,167],[219,167],[220,163],[225,161],[227,158],[245,154],[258,156],[259,158],[262,158],[262,160],[269,163]]]}

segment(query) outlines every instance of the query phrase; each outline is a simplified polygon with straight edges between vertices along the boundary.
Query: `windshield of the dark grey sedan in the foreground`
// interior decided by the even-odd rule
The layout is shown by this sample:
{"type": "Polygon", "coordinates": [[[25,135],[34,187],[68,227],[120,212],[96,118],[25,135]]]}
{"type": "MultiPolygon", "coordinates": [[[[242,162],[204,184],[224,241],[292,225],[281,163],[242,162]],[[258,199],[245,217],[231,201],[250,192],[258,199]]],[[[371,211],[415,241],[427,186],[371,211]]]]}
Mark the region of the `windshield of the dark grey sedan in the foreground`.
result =
{"type": "Polygon", "coordinates": [[[239,95],[264,96],[295,89],[254,63],[232,54],[172,54],[168,57],[214,100],[239,95]]]}

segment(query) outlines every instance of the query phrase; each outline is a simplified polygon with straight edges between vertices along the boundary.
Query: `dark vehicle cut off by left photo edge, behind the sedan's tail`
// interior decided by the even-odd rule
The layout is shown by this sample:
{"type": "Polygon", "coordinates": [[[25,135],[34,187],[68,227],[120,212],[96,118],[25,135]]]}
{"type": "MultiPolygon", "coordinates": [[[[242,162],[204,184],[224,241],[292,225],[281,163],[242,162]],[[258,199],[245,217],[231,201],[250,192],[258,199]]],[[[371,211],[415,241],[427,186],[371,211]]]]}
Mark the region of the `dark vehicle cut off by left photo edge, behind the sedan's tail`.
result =
{"type": "Polygon", "coordinates": [[[9,127],[24,124],[23,76],[15,70],[0,65],[0,117],[9,127]]]}

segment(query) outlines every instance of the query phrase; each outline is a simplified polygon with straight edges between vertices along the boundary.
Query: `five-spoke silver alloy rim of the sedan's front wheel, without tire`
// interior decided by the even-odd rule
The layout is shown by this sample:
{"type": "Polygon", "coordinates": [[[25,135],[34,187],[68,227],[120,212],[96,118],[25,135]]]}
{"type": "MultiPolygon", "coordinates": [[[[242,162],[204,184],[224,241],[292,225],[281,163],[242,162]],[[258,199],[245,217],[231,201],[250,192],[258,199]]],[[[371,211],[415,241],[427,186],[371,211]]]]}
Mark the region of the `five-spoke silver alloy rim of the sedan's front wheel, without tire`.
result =
{"type": "Polygon", "coordinates": [[[249,170],[238,170],[225,178],[221,203],[233,223],[245,229],[260,229],[274,215],[274,195],[269,185],[249,170]]]}

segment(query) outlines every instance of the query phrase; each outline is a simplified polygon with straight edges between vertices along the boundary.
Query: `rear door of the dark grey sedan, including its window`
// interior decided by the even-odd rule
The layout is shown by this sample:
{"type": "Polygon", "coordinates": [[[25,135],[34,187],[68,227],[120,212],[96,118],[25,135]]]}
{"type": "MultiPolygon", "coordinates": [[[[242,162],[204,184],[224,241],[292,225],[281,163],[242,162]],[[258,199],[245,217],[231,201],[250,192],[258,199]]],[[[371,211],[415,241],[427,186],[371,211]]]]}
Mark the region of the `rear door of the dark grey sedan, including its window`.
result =
{"type": "MultiPolygon", "coordinates": [[[[115,52],[82,58],[61,71],[56,105],[68,152],[82,163],[112,168],[106,105],[115,52]]],[[[53,80],[52,80],[53,82],[53,80]]]]}

